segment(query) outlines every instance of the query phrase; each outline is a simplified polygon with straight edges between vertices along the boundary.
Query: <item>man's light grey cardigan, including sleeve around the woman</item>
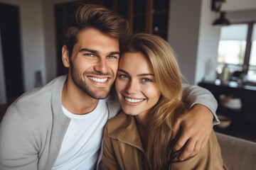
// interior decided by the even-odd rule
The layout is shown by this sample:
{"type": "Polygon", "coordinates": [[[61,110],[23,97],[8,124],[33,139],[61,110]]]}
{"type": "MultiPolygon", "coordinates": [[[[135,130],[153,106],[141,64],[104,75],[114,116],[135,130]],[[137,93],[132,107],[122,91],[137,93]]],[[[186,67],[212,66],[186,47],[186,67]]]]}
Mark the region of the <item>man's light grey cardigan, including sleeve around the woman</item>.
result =
{"type": "MultiPolygon", "coordinates": [[[[70,123],[61,107],[66,79],[66,75],[61,76],[42,88],[28,91],[9,106],[0,124],[0,169],[53,168],[70,123]]],[[[190,96],[191,101],[187,102],[190,106],[202,103],[215,115],[217,103],[208,91],[197,86],[183,89],[188,89],[183,91],[183,98],[190,96]]],[[[121,109],[112,94],[107,98],[107,107],[109,118],[121,109]]],[[[216,115],[215,121],[218,123],[216,115]]],[[[98,164],[101,157],[102,152],[98,164]]]]}

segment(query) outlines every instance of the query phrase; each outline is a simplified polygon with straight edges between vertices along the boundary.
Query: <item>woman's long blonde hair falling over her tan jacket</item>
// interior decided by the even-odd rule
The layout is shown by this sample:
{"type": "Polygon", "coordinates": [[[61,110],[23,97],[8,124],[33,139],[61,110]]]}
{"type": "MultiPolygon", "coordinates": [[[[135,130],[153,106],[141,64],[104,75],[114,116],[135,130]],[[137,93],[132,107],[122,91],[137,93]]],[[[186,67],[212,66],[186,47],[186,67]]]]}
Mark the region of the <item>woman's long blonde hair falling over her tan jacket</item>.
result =
{"type": "Polygon", "coordinates": [[[157,35],[139,33],[129,38],[121,50],[143,52],[149,58],[161,96],[149,112],[147,159],[151,169],[169,169],[171,130],[174,121],[185,112],[181,101],[181,72],[171,46],[157,35]]]}

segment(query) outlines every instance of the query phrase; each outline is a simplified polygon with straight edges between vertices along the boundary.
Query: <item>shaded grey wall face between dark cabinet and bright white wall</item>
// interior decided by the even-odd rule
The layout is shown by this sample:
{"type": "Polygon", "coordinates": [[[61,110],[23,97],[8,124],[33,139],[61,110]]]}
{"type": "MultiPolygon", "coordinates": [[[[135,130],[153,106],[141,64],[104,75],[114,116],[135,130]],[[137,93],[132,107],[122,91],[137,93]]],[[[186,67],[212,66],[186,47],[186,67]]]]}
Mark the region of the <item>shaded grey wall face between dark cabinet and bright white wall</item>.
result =
{"type": "Polygon", "coordinates": [[[171,0],[167,41],[178,58],[181,72],[193,84],[196,72],[201,0],[171,0]]]}

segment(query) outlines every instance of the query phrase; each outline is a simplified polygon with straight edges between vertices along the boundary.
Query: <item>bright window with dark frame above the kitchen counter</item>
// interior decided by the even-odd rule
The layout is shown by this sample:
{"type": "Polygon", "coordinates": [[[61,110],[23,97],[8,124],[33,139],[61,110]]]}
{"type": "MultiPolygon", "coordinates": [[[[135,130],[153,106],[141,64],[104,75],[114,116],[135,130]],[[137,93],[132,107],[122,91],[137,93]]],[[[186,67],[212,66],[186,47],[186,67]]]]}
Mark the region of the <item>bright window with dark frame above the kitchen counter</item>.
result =
{"type": "Polygon", "coordinates": [[[256,23],[236,23],[220,28],[218,73],[225,64],[230,72],[244,72],[248,81],[256,82],[256,23]]]}

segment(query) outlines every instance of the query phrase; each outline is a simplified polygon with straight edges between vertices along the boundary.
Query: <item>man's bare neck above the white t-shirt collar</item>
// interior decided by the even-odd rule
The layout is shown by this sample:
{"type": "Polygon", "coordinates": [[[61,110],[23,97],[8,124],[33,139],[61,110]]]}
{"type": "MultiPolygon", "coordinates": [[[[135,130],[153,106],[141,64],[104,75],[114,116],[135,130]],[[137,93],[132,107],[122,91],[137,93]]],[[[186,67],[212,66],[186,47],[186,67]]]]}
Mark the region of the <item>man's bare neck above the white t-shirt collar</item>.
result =
{"type": "Polygon", "coordinates": [[[72,79],[68,78],[63,86],[61,103],[65,109],[77,115],[85,115],[92,112],[98,99],[92,98],[76,86],[72,79]]]}

